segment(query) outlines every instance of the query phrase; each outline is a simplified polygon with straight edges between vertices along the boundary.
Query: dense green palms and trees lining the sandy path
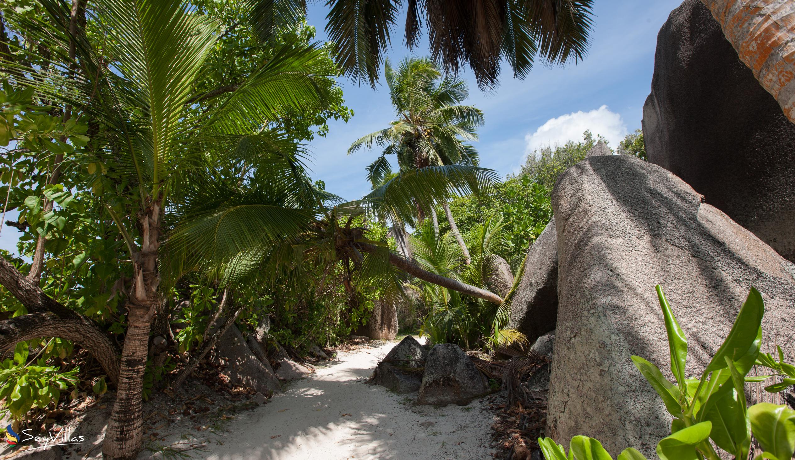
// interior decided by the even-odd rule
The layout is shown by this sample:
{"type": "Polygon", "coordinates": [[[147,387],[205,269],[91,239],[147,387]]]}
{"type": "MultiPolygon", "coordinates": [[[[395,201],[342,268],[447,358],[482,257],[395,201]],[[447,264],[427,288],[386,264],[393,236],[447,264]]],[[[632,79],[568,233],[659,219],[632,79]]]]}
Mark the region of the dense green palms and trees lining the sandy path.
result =
{"type": "MultiPolygon", "coordinates": [[[[414,2],[407,42],[425,13],[432,58],[391,67],[394,2],[329,2],[333,44],[315,43],[304,2],[2,2],[0,196],[21,257],[0,251],[0,347],[13,350],[0,397],[14,428],[112,389],[103,454],[134,458],[143,401],[179,387],[231,326],[267,328],[297,356],[347,338],[385,297],[434,343],[522,343],[506,329],[522,259],[556,178],[599,136],[533,152],[498,182],[455,73],[468,64],[488,87],[502,58],[520,78],[535,59],[583,59],[591,3],[494,2],[483,22],[414,2]],[[308,177],[302,142],[353,116],[340,75],[374,84],[382,64],[395,120],[351,146],[382,151],[370,194],[346,202],[308,177]]],[[[646,159],[641,132],[617,150],[646,159]]],[[[677,385],[692,424],[695,397],[677,385]]]]}

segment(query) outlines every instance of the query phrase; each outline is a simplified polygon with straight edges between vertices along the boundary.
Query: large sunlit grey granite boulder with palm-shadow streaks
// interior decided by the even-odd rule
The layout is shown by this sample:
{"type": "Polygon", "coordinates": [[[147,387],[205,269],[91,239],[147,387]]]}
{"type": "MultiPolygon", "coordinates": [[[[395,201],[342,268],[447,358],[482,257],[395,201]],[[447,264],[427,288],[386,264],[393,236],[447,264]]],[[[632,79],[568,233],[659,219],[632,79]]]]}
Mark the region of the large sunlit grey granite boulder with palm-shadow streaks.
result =
{"type": "Polygon", "coordinates": [[[560,176],[552,204],[559,304],[547,433],[557,443],[588,435],[611,454],[635,447],[655,458],[670,417],[630,355],[669,374],[656,284],[688,337],[688,375],[718,350],[750,286],[766,304],[763,347],[793,347],[795,266],[669,171],[591,157],[560,176]]]}

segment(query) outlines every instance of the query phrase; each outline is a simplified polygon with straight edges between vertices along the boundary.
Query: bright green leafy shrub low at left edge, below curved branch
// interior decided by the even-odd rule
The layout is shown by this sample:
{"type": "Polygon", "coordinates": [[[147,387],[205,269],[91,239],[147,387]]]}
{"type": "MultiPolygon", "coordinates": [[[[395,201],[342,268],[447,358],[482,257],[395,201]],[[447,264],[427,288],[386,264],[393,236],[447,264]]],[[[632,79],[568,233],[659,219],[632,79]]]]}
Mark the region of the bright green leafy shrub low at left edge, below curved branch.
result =
{"type": "Polygon", "coordinates": [[[0,398],[4,410],[14,420],[23,420],[31,408],[47,408],[58,404],[61,391],[76,385],[76,367],[68,372],[60,372],[55,366],[48,366],[46,358],[39,358],[36,365],[27,364],[28,344],[17,343],[14,359],[0,363],[0,398]]]}

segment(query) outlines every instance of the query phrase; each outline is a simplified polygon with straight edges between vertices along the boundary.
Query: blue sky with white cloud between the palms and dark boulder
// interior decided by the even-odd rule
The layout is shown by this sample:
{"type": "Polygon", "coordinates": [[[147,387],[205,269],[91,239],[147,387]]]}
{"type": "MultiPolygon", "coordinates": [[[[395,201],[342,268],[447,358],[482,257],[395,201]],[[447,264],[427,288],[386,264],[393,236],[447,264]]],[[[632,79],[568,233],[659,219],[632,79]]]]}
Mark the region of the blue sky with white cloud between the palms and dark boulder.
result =
{"type": "MultiPolygon", "coordinates": [[[[454,1],[454,0],[452,0],[454,1]]],[[[579,140],[585,129],[602,134],[615,145],[626,134],[641,127],[642,108],[649,94],[657,32],[681,0],[598,0],[595,26],[588,57],[576,66],[549,67],[541,63],[524,80],[514,80],[510,67],[503,66],[497,90],[483,94],[471,72],[462,76],[470,86],[469,103],[486,116],[475,147],[481,166],[506,175],[522,165],[528,151],[545,144],[579,140]]],[[[316,26],[317,39],[326,40],[328,10],[324,2],[311,2],[307,14],[316,26]]],[[[402,25],[394,29],[389,58],[397,63],[410,56],[403,44],[402,25]]],[[[413,56],[427,56],[425,38],[413,56]]],[[[384,128],[394,111],[386,86],[375,90],[339,79],[347,106],[355,116],[347,123],[329,121],[326,137],[308,143],[313,161],[312,178],[326,182],[326,189],[353,200],[370,190],[365,167],[378,151],[348,156],[356,139],[384,128]]],[[[16,219],[15,212],[6,216],[16,219]]],[[[16,228],[3,224],[0,248],[17,253],[16,228]]]]}

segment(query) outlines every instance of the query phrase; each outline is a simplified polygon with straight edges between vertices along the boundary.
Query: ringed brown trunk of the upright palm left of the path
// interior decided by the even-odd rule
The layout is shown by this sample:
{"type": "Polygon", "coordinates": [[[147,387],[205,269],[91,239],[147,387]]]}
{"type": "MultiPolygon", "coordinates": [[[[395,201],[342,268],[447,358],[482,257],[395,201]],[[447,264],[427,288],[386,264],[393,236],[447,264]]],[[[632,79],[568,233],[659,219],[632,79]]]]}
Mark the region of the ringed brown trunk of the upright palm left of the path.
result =
{"type": "Polygon", "coordinates": [[[143,440],[143,380],[149,353],[149,329],[161,299],[157,294],[160,274],[157,249],[160,247],[162,199],[148,203],[138,213],[136,223],[141,235],[141,250],[134,251],[133,286],[127,301],[127,333],[116,402],[108,420],[103,457],[132,459],[138,456],[143,440]]]}

